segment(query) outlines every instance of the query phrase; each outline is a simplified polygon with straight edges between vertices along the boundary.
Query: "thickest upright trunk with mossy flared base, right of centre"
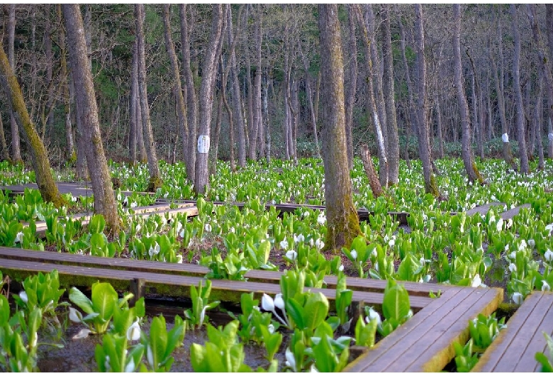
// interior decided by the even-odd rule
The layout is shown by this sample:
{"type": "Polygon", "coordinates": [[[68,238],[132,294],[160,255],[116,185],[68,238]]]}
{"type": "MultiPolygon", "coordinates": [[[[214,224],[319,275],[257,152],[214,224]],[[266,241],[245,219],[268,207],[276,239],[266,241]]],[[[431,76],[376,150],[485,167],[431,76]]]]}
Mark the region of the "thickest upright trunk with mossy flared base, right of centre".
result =
{"type": "Polygon", "coordinates": [[[325,249],[340,251],[361,234],[353,205],[345,136],[344,68],[340,23],[335,4],[319,4],[319,40],[323,79],[323,164],[327,233],[325,249]]]}

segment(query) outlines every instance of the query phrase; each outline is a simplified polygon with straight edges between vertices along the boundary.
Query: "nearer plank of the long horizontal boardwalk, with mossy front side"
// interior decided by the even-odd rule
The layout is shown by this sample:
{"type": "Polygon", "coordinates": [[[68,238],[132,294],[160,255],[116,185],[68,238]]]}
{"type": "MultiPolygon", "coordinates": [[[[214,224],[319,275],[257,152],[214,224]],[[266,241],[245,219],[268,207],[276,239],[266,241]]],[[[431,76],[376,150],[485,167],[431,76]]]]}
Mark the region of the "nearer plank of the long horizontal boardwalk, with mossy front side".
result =
{"type": "MultiPolygon", "coordinates": [[[[21,260],[0,259],[0,270],[5,275],[10,275],[15,280],[23,280],[28,275],[34,275],[36,272],[50,272],[58,270],[60,275],[60,284],[66,287],[74,285],[90,286],[95,280],[104,280],[115,284],[116,289],[130,289],[130,282],[133,280],[144,280],[146,291],[155,294],[162,294],[169,297],[189,297],[189,287],[197,285],[203,277],[191,277],[185,275],[163,275],[152,272],[134,272],[128,270],[106,270],[95,267],[82,267],[73,265],[55,265],[45,262],[29,262],[21,260]]],[[[212,291],[211,299],[221,300],[223,302],[240,303],[242,292],[254,292],[257,297],[262,293],[277,294],[280,292],[278,284],[269,284],[261,282],[242,282],[229,280],[211,280],[212,291]]],[[[306,287],[306,291],[321,292],[327,299],[333,303],[335,300],[335,290],[333,289],[314,289],[306,287]]],[[[364,302],[379,306],[382,304],[384,295],[374,292],[354,292],[353,302],[364,302]]],[[[432,299],[419,297],[417,302],[428,304],[432,299]]],[[[422,307],[419,307],[422,308],[422,307]]]]}

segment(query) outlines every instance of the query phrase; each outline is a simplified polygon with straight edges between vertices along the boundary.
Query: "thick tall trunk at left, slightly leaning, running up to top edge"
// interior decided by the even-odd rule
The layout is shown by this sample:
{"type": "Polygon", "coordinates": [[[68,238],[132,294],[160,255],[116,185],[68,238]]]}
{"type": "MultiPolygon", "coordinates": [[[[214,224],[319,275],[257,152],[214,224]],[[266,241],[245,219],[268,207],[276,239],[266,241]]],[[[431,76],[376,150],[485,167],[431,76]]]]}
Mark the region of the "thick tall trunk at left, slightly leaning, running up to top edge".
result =
{"type": "Polygon", "coordinates": [[[62,4],[67,31],[69,61],[75,85],[77,116],[82,125],[84,153],[94,192],[94,212],[106,219],[106,231],[116,233],[121,226],[108,162],[104,154],[100,134],[96,94],[92,82],[92,72],[86,54],[84,28],[81,11],[77,4],[62,4]]]}

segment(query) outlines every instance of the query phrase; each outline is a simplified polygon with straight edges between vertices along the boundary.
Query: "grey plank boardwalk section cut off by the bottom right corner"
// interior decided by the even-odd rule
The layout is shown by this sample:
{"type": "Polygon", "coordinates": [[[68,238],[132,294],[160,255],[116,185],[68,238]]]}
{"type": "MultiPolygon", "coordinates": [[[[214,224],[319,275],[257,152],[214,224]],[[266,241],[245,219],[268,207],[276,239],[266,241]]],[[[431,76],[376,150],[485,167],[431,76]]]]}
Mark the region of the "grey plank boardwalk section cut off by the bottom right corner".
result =
{"type": "Polygon", "coordinates": [[[553,292],[532,292],[471,372],[539,372],[535,353],[549,355],[543,332],[553,335],[553,292]]]}

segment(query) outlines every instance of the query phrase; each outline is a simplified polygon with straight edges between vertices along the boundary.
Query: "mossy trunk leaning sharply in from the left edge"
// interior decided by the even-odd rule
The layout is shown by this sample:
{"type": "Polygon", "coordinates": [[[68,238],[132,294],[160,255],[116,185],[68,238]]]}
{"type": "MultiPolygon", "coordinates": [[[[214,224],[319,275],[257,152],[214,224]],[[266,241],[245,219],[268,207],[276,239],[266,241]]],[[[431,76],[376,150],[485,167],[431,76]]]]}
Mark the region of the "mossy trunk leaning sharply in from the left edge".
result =
{"type": "Polygon", "coordinates": [[[57,185],[50,172],[48,153],[46,152],[43,141],[38,136],[33,121],[30,120],[25,101],[23,101],[21,87],[19,87],[17,77],[13,74],[4,48],[0,48],[0,72],[2,86],[4,86],[6,94],[8,95],[13,114],[17,116],[18,123],[23,126],[23,131],[25,131],[28,139],[36,183],[40,190],[40,194],[44,201],[52,202],[56,207],[65,205],[67,202],[57,189],[57,185]]]}

